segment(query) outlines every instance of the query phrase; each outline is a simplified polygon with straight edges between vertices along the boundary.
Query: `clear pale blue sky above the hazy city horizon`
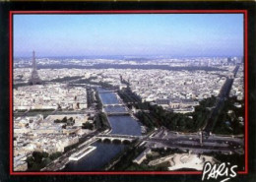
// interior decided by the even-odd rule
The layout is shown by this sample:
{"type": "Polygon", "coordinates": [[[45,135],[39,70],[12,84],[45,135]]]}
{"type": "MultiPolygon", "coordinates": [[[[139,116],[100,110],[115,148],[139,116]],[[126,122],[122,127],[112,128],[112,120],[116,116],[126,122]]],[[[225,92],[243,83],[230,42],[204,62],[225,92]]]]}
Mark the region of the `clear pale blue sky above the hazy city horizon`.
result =
{"type": "Polygon", "coordinates": [[[242,56],[242,14],[14,15],[14,57],[242,56]]]}

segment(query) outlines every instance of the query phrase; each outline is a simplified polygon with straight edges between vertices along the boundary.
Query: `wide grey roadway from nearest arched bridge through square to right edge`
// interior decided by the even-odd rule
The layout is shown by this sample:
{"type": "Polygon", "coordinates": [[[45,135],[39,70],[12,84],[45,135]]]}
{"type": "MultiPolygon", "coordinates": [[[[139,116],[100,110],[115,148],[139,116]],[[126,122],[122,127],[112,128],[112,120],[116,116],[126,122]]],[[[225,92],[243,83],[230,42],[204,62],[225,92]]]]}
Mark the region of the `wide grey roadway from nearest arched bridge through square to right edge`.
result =
{"type": "Polygon", "coordinates": [[[235,137],[210,136],[200,143],[199,134],[170,134],[162,136],[164,129],[159,129],[148,136],[129,136],[129,135],[98,135],[97,138],[115,138],[115,139],[134,139],[140,142],[157,143],[165,147],[174,149],[186,149],[196,151],[213,151],[213,152],[243,152],[243,139],[235,137]],[[160,134],[160,135],[159,135],[160,134]],[[240,149],[239,151],[237,149],[240,149]]]}

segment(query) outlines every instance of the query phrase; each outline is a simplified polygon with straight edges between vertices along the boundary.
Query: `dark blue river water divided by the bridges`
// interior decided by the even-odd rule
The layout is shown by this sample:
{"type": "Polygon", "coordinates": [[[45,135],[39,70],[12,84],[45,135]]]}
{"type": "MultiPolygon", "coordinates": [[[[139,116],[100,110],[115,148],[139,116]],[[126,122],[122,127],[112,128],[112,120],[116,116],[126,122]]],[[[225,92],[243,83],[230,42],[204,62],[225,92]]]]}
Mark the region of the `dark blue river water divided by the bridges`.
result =
{"type": "MultiPolygon", "coordinates": [[[[100,92],[99,97],[102,104],[117,104],[121,103],[116,93],[114,92],[100,92]]],[[[118,106],[106,106],[106,112],[124,112],[125,107],[122,105],[118,106]]],[[[140,124],[133,119],[130,115],[118,115],[108,116],[108,121],[112,128],[111,134],[120,135],[141,135],[140,124]]],[[[96,142],[92,146],[96,146],[96,150],[87,154],[78,161],[69,162],[63,171],[99,171],[105,166],[114,156],[118,153],[123,152],[125,145],[122,144],[106,144],[96,142]]]]}

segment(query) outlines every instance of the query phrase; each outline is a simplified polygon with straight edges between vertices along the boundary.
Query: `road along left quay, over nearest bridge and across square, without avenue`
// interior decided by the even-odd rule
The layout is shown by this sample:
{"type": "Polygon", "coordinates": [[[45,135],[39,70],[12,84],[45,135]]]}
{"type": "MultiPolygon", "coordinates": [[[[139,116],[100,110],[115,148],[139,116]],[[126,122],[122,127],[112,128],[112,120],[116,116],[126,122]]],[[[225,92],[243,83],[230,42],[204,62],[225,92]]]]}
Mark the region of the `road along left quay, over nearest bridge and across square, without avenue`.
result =
{"type": "Polygon", "coordinates": [[[205,139],[203,145],[200,144],[200,135],[198,134],[180,134],[175,132],[165,132],[164,128],[160,128],[155,132],[147,136],[129,136],[129,135],[114,135],[94,132],[83,136],[84,143],[78,148],[64,153],[59,158],[52,161],[41,171],[56,171],[61,170],[69,162],[69,156],[82,150],[83,148],[95,143],[100,137],[114,137],[114,138],[126,138],[136,139],[142,142],[147,142],[150,145],[160,144],[163,147],[180,150],[190,150],[194,152],[234,152],[243,153],[243,139],[234,137],[221,137],[221,136],[210,136],[205,139]]]}

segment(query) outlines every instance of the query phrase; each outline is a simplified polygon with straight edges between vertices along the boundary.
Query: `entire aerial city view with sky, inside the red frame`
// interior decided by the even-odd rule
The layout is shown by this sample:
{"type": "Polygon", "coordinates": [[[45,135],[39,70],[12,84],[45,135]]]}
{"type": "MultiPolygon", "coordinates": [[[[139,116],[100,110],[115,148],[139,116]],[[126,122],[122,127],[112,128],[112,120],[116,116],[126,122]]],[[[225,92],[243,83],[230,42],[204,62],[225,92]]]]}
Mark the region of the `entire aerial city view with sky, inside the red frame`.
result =
{"type": "Polygon", "coordinates": [[[15,15],[14,171],[244,170],[242,15],[133,16],[15,15]]]}

